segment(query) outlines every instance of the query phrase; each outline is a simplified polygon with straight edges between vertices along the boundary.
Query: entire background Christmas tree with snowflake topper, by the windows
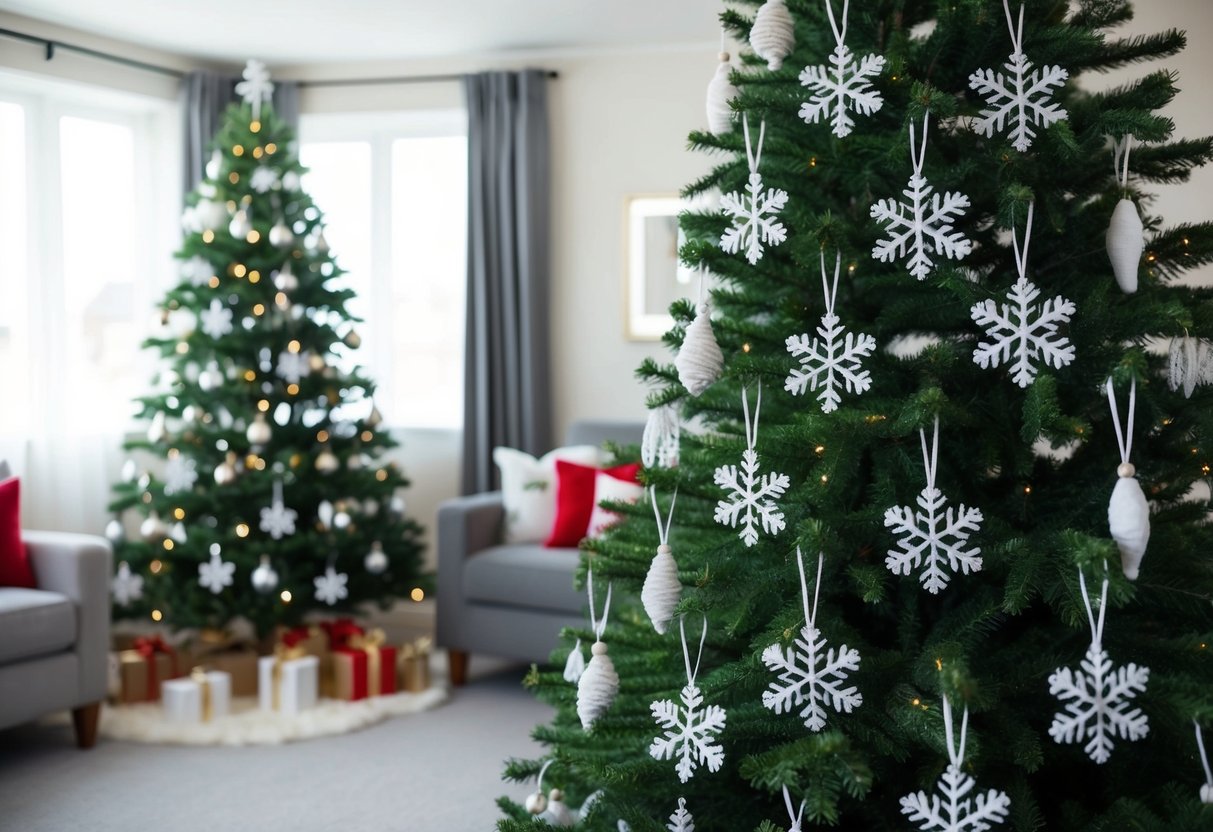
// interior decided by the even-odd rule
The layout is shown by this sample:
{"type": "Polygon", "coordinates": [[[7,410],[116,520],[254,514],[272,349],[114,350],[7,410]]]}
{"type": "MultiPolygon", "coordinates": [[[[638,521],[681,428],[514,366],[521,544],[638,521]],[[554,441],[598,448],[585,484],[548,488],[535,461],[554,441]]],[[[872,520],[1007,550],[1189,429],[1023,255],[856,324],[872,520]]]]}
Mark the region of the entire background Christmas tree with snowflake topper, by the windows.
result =
{"type": "Polygon", "coordinates": [[[250,62],[188,198],[182,279],[147,341],[163,369],[138,400],[147,439],[131,450],[110,524],[118,616],[173,628],[260,633],[309,610],[387,605],[418,589],[420,526],[404,514],[395,443],[375,384],[354,363],[352,297],[301,189],[291,129],[250,62]]]}

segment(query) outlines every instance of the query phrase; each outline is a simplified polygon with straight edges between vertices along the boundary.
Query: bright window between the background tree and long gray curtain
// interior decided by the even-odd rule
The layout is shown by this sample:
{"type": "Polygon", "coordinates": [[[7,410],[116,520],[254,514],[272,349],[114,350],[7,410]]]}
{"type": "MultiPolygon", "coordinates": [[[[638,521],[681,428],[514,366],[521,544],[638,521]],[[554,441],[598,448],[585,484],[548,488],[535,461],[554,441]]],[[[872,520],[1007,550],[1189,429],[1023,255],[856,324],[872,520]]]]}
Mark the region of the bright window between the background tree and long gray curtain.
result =
{"type": "Polygon", "coordinates": [[[462,113],[303,116],[304,189],[358,292],[358,360],[397,427],[463,421],[467,138],[462,113]]]}

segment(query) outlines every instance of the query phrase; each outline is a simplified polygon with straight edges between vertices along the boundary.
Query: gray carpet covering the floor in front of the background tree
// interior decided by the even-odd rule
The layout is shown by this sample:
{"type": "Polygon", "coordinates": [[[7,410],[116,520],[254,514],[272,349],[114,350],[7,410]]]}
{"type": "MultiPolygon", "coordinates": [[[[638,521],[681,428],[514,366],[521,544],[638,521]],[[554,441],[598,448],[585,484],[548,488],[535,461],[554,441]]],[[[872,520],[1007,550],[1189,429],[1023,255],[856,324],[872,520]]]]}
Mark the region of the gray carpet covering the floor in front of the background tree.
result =
{"type": "Polygon", "coordinates": [[[0,731],[0,830],[22,832],[479,832],[507,757],[535,754],[549,717],[525,668],[477,657],[433,711],[285,746],[182,748],[102,740],[78,751],[69,728],[0,731]]]}

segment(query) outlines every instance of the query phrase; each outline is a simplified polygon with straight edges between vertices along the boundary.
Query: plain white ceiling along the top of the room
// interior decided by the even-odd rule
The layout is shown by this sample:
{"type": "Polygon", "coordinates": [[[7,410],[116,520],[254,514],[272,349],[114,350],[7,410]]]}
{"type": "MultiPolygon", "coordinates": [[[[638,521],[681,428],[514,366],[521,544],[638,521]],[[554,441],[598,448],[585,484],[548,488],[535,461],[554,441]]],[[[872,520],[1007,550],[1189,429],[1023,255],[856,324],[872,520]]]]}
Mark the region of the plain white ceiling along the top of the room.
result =
{"type": "Polygon", "coordinates": [[[719,0],[0,0],[0,8],[205,61],[270,65],[636,49],[719,36],[719,0]]]}

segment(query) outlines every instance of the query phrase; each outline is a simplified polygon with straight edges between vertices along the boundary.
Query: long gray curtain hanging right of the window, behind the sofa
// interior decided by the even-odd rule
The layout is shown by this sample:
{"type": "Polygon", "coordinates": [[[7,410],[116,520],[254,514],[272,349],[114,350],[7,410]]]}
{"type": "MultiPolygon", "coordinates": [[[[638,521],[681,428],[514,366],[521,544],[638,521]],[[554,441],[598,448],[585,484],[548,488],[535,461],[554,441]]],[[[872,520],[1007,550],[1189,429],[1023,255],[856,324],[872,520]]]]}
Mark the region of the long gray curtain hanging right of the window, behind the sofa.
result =
{"type": "Polygon", "coordinates": [[[492,449],[552,446],[547,73],[468,75],[463,494],[499,488],[492,449]]]}

